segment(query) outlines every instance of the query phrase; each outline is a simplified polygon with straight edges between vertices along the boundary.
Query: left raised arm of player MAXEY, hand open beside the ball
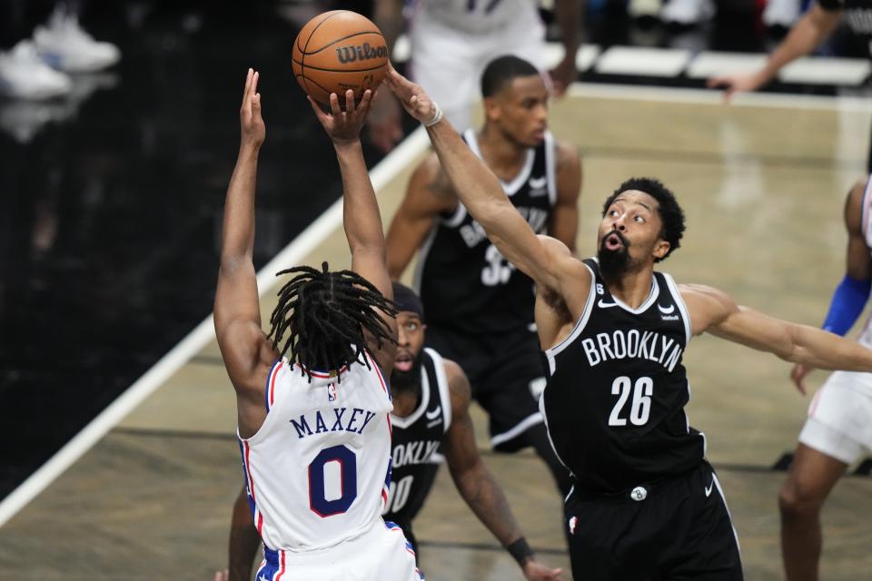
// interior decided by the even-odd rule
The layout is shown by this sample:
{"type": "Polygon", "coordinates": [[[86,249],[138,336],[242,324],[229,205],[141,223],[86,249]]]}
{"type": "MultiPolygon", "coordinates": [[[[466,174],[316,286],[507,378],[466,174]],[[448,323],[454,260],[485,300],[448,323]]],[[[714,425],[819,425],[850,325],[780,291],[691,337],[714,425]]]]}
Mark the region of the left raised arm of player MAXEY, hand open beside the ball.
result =
{"type": "Polygon", "coordinates": [[[269,367],[272,350],[261,330],[254,247],[254,190],[257,160],[266,136],[261,116],[259,75],[248,70],[240,107],[241,138],[233,177],[227,187],[221,242],[221,267],[215,292],[214,324],[218,345],[233,386],[240,391],[269,367]]]}

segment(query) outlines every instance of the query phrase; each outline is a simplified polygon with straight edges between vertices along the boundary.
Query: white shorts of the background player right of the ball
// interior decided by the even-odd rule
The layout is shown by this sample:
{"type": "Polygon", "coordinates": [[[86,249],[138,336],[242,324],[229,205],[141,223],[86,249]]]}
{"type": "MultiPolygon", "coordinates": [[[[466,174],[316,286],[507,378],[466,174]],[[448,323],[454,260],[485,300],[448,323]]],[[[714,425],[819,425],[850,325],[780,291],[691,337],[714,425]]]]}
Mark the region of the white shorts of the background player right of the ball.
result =
{"type": "Polygon", "coordinates": [[[459,133],[469,129],[471,104],[481,98],[481,74],[498,56],[514,54],[544,70],[545,27],[534,5],[510,25],[470,34],[422,9],[411,22],[411,77],[439,103],[459,133]]]}

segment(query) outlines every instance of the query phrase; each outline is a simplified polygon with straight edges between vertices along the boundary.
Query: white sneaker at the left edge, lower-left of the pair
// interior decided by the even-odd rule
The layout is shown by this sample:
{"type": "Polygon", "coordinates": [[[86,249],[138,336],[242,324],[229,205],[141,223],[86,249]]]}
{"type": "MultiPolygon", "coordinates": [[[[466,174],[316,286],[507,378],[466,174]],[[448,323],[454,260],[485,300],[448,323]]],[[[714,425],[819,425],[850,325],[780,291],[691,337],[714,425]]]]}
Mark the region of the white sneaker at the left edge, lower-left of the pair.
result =
{"type": "Polygon", "coordinates": [[[45,64],[29,40],[0,53],[0,93],[18,99],[51,99],[69,94],[70,77],[45,64]]]}

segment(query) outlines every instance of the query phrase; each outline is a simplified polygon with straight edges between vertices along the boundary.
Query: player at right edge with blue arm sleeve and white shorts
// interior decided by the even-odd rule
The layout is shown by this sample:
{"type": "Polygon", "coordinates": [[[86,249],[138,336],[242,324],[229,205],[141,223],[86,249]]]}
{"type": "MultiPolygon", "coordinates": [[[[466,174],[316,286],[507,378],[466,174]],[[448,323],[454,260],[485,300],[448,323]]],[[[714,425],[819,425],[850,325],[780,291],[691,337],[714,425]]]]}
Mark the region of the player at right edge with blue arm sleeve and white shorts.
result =
{"type": "MultiPolygon", "coordinates": [[[[847,273],[838,284],[824,329],[844,335],[857,321],[872,289],[872,181],[858,182],[847,194],[847,273]]],[[[872,320],[860,334],[872,348],[872,320]]],[[[812,368],[794,366],[790,376],[806,392],[812,368]]],[[[848,466],[872,451],[872,374],[836,371],[817,390],[790,474],[778,498],[781,547],[788,581],[817,579],[821,549],[820,509],[848,466]]]]}

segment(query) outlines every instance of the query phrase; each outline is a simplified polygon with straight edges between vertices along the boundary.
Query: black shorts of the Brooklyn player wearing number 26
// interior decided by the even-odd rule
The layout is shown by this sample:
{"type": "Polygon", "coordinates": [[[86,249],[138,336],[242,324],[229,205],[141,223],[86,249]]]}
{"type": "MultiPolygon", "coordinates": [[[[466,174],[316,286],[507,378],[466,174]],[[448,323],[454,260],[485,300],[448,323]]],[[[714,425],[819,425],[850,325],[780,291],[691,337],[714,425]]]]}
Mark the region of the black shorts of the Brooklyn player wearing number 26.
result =
{"type": "Polygon", "coordinates": [[[564,512],[576,579],[743,578],[738,538],[708,462],[617,495],[573,491],[564,512]]]}

